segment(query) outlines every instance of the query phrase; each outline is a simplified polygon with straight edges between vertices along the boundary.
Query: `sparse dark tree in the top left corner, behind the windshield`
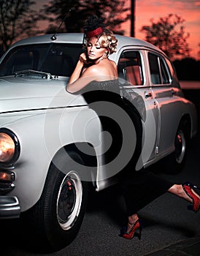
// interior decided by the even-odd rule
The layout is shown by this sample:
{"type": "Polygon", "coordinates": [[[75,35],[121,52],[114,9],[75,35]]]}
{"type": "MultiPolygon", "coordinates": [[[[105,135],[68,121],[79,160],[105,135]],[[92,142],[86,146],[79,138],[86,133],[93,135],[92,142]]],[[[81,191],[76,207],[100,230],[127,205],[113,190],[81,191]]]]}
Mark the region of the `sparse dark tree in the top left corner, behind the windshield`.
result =
{"type": "Polygon", "coordinates": [[[14,41],[39,33],[37,13],[31,10],[34,4],[28,0],[0,0],[0,44],[4,51],[14,41]]]}

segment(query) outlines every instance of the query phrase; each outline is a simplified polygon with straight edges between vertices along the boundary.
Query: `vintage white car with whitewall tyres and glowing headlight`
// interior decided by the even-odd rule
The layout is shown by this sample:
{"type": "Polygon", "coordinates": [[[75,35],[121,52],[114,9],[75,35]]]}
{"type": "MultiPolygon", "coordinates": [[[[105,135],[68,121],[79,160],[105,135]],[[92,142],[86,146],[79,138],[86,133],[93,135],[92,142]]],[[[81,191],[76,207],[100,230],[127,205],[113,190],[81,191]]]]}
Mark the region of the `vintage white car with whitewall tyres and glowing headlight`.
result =
{"type": "MultiPolygon", "coordinates": [[[[99,116],[82,94],[66,92],[82,38],[23,39],[0,62],[0,218],[26,216],[31,232],[54,250],[77,235],[88,183],[99,192],[117,182],[116,170],[103,164],[109,136],[101,136],[99,116]]],[[[197,132],[196,108],[161,50],[117,38],[118,50],[109,58],[118,64],[121,97],[136,93],[145,104],[143,164],[170,157],[169,169],[180,169],[187,140],[197,132]]]]}

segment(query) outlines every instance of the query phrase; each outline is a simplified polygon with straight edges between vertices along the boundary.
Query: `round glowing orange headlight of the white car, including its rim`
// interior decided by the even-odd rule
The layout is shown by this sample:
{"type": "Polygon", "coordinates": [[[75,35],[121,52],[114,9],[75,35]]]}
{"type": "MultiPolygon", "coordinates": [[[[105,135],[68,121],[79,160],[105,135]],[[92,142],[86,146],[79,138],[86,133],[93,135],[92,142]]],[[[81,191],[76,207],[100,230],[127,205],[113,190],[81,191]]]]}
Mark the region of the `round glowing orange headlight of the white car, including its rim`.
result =
{"type": "Polygon", "coordinates": [[[13,165],[20,155],[20,143],[9,129],[0,129],[0,165],[13,165]]]}

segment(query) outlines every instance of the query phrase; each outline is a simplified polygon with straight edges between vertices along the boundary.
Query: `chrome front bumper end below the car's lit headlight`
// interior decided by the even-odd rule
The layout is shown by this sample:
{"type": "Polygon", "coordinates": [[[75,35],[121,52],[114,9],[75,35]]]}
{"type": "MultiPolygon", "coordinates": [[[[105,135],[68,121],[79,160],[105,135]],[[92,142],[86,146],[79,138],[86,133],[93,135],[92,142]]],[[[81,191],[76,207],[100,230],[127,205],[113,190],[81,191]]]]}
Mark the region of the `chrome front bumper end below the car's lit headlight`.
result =
{"type": "Polygon", "coordinates": [[[14,219],[20,217],[20,203],[17,197],[0,196],[0,219],[14,219]]]}

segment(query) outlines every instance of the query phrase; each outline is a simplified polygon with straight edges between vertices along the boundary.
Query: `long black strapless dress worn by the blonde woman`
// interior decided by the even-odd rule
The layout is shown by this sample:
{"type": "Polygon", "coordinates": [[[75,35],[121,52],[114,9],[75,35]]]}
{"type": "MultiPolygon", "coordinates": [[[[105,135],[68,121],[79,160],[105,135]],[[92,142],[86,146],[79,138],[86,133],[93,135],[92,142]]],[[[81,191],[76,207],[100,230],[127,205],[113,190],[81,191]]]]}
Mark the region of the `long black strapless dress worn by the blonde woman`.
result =
{"type": "MultiPolygon", "coordinates": [[[[126,161],[126,165],[117,176],[126,203],[127,215],[136,214],[173,186],[171,182],[145,170],[141,162],[138,165],[142,152],[142,118],[145,118],[143,99],[135,95],[136,104],[130,102],[128,97],[125,99],[124,95],[120,95],[118,80],[93,81],[79,93],[82,93],[89,106],[99,115],[103,129],[112,135],[112,144],[104,154],[105,164],[119,157],[123,141],[126,141],[126,154],[130,154],[131,151],[131,158],[126,161]],[[107,114],[109,112],[107,102],[111,104],[111,107],[116,107],[111,111],[114,118],[112,114],[107,114]],[[119,108],[123,111],[119,111],[119,108]],[[122,125],[122,122],[126,120],[124,118],[126,114],[134,124],[135,134],[133,135],[128,127],[130,123],[122,125]],[[122,130],[122,127],[125,130],[122,130]],[[139,170],[138,166],[140,166],[139,170]]],[[[120,162],[123,162],[124,157],[125,155],[122,154],[120,162]]]]}

